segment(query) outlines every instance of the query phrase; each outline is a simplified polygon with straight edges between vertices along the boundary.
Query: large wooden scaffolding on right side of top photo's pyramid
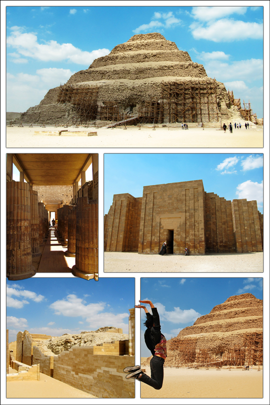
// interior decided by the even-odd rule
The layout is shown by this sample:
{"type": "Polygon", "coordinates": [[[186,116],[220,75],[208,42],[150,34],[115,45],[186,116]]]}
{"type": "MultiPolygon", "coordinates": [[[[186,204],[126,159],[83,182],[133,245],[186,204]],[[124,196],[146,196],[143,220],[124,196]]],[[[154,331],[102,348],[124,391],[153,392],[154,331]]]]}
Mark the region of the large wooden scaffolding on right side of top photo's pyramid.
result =
{"type": "Polygon", "coordinates": [[[169,122],[218,122],[216,81],[162,82],[161,92],[169,122]]]}

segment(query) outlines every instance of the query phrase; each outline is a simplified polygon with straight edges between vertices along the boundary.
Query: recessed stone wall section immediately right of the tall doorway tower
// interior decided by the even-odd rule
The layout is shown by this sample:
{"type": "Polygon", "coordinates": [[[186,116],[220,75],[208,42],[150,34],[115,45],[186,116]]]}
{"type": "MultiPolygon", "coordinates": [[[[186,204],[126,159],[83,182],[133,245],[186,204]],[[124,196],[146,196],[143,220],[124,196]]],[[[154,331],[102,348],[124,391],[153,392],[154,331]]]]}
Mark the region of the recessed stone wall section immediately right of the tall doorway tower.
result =
{"type": "Polygon", "coordinates": [[[205,242],[207,252],[234,252],[231,201],[205,192],[205,242]]]}

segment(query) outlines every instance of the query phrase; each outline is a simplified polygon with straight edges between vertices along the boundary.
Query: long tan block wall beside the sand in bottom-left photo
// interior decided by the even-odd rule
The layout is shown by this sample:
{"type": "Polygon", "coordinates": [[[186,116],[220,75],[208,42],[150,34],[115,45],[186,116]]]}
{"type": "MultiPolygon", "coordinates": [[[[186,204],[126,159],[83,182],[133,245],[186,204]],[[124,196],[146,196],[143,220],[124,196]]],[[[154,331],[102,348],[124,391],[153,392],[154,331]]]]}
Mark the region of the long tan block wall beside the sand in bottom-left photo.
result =
{"type": "MultiPolygon", "coordinates": [[[[98,347],[98,346],[97,346],[98,347]]],[[[134,398],[134,381],[123,368],[133,356],[94,354],[93,347],[72,347],[54,358],[53,377],[102,398],[134,398]]]]}

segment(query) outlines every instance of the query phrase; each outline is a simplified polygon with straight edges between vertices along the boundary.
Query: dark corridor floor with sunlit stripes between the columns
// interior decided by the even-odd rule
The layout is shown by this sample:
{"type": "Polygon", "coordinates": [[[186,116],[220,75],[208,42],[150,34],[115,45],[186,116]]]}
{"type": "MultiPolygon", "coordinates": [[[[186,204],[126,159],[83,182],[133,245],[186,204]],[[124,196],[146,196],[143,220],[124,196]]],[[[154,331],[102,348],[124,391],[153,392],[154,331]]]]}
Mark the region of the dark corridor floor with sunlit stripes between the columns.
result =
{"type": "Polygon", "coordinates": [[[69,273],[75,265],[75,257],[66,257],[66,245],[62,245],[56,228],[49,228],[41,254],[37,273],[69,273]]]}

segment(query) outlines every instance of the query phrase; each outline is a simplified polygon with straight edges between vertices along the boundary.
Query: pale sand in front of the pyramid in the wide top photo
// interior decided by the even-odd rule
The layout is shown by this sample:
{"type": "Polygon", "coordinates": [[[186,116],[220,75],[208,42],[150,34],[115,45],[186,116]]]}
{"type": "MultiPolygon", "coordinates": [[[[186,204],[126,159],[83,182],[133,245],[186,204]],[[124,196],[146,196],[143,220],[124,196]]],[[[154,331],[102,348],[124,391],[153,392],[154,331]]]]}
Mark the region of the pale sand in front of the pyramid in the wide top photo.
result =
{"type": "MultiPolygon", "coordinates": [[[[217,124],[218,125],[218,124],[217,124]]],[[[263,128],[254,126],[250,129],[227,130],[216,128],[127,126],[116,128],[88,128],[97,131],[97,136],[55,136],[34,135],[34,131],[55,130],[54,125],[29,124],[23,127],[14,125],[6,127],[6,147],[263,147],[263,128]]],[[[58,130],[60,127],[58,127],[58,130]]],[[[66,128],[65,128],[66,129],[66,128]]],[[[69,131],[85,130],[85,128],[68,127],[69,131]]]]}

